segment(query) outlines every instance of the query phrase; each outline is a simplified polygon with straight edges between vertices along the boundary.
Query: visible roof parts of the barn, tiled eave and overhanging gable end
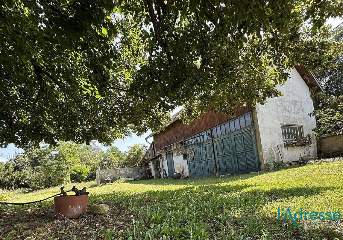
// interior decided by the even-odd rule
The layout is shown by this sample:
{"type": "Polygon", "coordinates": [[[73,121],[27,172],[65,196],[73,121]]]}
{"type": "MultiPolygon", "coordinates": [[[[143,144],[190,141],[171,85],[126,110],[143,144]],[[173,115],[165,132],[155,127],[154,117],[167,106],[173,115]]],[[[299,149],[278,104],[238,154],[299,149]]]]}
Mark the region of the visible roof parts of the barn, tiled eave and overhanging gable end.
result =
{"type": "MultiPolygon", "coordinates": [[[[316,92],[319,91],[324,91],[322,85],[320,84],[319,80],[316,78],[315,74],[311,71],[311,70],[307,70],[305,66],[302,65],[298,65],[295,66],[295,69],[297,70],[297,72],[299,73],[299,75],[301,76],[301,78],[303,78],[303,80],[305,81],[305,83],[307,84],[308,88],[310,89],[310,92],[313,94],[315,94],[316,92]]],[[[168,127],[171,123],[175,122],[176,120],[179,119],[179,115],[181,113],[185,112],[184,109],[181,109],[180,111],[178,111],[177,113],[175,113],[173,116],[171,116],[169,123],[164,126],[164,127],[168,127]]],[[[150,133],[145,140],[147,140],[148,138],[152,137],[153,135],[155,135],[157,132],[152,132],[150,133]]]]}

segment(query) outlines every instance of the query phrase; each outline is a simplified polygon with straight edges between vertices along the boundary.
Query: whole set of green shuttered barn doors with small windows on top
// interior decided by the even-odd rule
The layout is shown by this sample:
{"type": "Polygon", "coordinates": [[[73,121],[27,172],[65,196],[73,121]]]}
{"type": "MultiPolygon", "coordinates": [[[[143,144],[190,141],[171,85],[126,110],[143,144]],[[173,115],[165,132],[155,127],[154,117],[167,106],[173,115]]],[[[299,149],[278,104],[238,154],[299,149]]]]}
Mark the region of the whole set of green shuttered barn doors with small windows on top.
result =
{"type": "Polygon", "coordinates": [[[212,140],[194,143],[187,148],[190,177],[214,176],[258,171],[258,158],[250,115],[232,120],[211,129],[212,140]],[[239,122],[242,120],[241,122],[239,122]],[[236,126],[239,126],[237,129],[236,126]],[[220,132],[220,134],[218,133],[220,132]],[[193,159],[189,153],[194,151],[193,159]],[[216,166],[216,167],[215,167],[216,166]]]}

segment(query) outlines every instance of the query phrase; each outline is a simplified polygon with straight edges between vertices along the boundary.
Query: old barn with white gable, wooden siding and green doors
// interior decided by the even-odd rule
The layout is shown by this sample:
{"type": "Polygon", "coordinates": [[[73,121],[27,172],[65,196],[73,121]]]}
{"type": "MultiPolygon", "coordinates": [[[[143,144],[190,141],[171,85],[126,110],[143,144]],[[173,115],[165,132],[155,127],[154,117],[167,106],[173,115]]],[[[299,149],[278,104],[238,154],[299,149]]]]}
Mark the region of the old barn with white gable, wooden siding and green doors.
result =
{"type": "Polygon", "coordinates": [[[146,161],[155,178],[205,177],[266,170],[274,161],[292,162],[317,157],[312,129],[312,97],[323,91],[304,66],[296,66],[278,89],[283,97],[265,105],[237,106],[235,117],[215,113],[210,107],[199,119],[183,124],[178,116],[153,137],[146,161]]]}

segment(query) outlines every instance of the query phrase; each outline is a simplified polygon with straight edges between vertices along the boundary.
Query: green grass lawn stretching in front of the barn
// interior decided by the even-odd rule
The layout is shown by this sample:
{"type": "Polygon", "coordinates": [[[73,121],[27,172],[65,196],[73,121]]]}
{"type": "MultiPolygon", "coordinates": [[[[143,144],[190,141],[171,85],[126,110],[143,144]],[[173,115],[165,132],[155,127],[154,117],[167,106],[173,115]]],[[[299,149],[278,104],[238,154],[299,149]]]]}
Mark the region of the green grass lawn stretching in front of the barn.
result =
{"type": "MultiPolygon", "coordinates": [[[[66,187],[71,188],[72,185],[66,187]]],[[[73,221],[35,220],[0,224],[7,239],[343,239],[343,226],[300,226],[277,209],[343,213],[343,159],[263,174],[200,179],[152,179],[87,187],[89,201],[114,204],[104,217],[73,221]],[[12,231],[12,232],[11,232],[12,231]]],[[[23,194],[15,201],[42,199],[59,187],[23,194]]],[[[31,205],[35,219],[52,201],[31,205]],[[43,210],[42,210],[43,209],[43,210]]],[[[27,208],[27,207],[26,207],[27,208]]],[[[9,213],[6,210],[6,214],[9,213]]],[[[4,211],[5,212],[5,211],[4,211]]],[[[4,215],[3,212],[3,215],[4,215]]],[[[0,216],[1,218],[1,216],[0,216]]],[[[26,221],[26,220],[25,220],[26,221]]],[[[304,220],[304,222],[337,220],[304,220]]],[[[299,220],[296,220],[299,223],[299,220]]],[[[0,221],[1,223],[1,221],[0,221]]],[[[343,225],[343,223],[342,223],[343,225]]]]}

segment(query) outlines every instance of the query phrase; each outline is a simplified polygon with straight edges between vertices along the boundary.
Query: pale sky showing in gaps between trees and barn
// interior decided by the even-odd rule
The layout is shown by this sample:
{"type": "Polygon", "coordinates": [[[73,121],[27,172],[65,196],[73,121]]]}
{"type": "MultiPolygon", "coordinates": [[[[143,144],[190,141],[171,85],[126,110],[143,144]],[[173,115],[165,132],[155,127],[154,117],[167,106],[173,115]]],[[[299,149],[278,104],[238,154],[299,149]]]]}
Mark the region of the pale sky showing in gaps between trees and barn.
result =
{"type": "MultiPolygon", "coordinates": [[[[330,18],[327,21],[327,24],[331,24],[332,28],[335,28],[336,26],[340,25],[343,22],[342,18],[330,18]]],[[[180,111],[182,109],[182,107],[177,107],[176,109],[174,109],[171,112],[171,115],[173,116],[173,114],[177,113],[178,111],[180,111]]],[[[151,133],[151,131],[146,132],[145,134],[143,134],[142,136],[138,137],[137,135],[132,135],[131,138],[126,138],[125,140],[120,140],[118,139],[117,141],[115,141],[112,146],[116,146],[117,148],[120,149],[120,151],[125,152],[128,150],[128,146],[131,146],[133,144],[136,143],[141,143],[141,144],[147,144],[149,145],[146,141],[145,138],[147,135],[149,135],[151,133]]],[[[152,142],[152,137],[147,139],[148,142],[152,142]]],[[[106,150],[107,148],[99,143],[96,143],[98,146],[101,146],[104,150],[106,150]]],[[[14,144],[9,144],[7,148],[3,149],[0,148],[0,162],[5,162],[7,161],[7,156],[14,154],[15,152],[20,153],[23,152],[22,149],[20,148],[16,148],[14,144]]]]}

